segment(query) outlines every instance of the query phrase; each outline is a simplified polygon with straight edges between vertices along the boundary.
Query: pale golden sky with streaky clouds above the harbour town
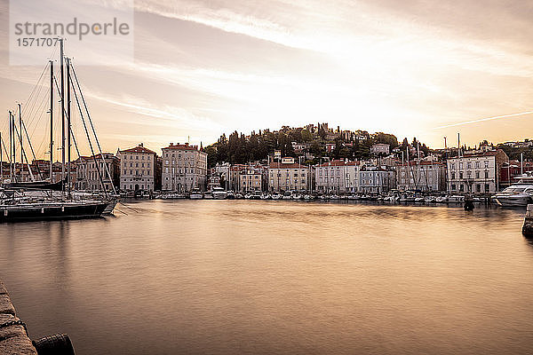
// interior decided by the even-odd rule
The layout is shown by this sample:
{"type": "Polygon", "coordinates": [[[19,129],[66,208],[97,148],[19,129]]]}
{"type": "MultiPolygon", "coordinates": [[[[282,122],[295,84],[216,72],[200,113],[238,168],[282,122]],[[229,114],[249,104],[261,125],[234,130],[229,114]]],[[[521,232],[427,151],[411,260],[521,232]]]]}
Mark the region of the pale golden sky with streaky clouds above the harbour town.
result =
{"type": "MultiPolygon", "coordinates": [[[[0,10],[5,132],[48,59],[10,65],[9,3],[0,10]]],[[[110,152],[317,122],[432,147],[457,146],[460,132],[473,146],[533,138],[532,18],[528,1],[135,0],[132,58],[96,53],[101,65],[76,72],[110,152]]],[[[44,156],[48,107],[37,107],[28,130],[44,156]]]]}

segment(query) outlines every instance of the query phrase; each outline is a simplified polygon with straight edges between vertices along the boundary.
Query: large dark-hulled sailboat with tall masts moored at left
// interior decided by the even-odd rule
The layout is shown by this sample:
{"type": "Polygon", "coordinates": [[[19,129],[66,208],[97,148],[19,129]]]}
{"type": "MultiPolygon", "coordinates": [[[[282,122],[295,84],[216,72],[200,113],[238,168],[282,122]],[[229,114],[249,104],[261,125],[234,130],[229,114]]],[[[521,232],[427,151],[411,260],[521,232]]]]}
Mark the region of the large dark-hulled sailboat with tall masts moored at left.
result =
{"type": "MultiPolygon", "coordinates": [[[[76,72],[74,67],[72,67],[71,61],[68,58],[64,57],[63,53],[63,39],[60,39],[60,87],[55,80],[53,73],[53,61],[50,60],[50,178],[47,180],[36,180],[33,176],[32,170],[28,163],[28,157],[22,145],[22,134],[26,130],[21,118],[21,109],[19,104],[19,121],[20,129],[16,129],[16,122],[14,115],[10,111],[9,113],[9,129],[10,129],[10,152],[9,152],[9,163],[10,163],[10,179],[6,181],[5,184],[0,188],[0,223],[4,222],[22,222],[22,221],[32,221],[32,220],[62,220],[62,219],[71,219],[71,218],[91,218],[91,217],[100,217],[106,211],[111,212],[115,208],[116,200],[108,196],[107,191],[104,188],[104,195],[97,196],[96,198],[91,198],[90,196],[85,196],[84,194],[74,193],[72,191],[72,182],[71,182],[71,168],[70,168],[70,155],[71,155],[71,139],[74,139],[72,134],[71,126],[71,114],[70,114],[70,103],[71,103],[71,88],[76,97],[76,104],[78,106],[82,121],[84,123],[84,130],[89,141],[89,146],[91,147],[92,157],[95,160],[95,165],[98,170],[99,180],[103,186],[102,172],[99,170],[99,163],[96,162],[96,155],[94,154],[93,146],[91,143],[90,134],[87,128],[87,124],[84,119],[84,113],[80,105],[80,99],[78,99],[78,92],[80,98],[83,100],[85,114],[87,120],[91,124],[91,129],[94,135],[94,138],[99,146],[98,138],[96,137],[96,132],[94,126],[91,122],[91,116],[89,115],[87,106],[84,101],[83,93],[81,92],[80,85],[77,81],[76,72]],[[66,63],[66,65],[65,65],[66,63]],[[64,69],[67,68],[67,74],[64,75],[64,69]],[[71,74],[72,72],[72,74],[71,74]],[[72,79],[76,80],[76,85],[72,79]],[[65,79],[67,81],[67,98],[64,99],[64,90],[65,90],[65,79]],[[60,103],[61,103],[61,179],[59,182],[52,182],[52,165],[53,165],[53,92],[55,87],[60,91],[60,103]],[[67,103],[67,107],[65,107],[67,103]],[[16,137],[16,138],[15,138],[16,137]],[[21,167],[24,167],[24,159],[28,165],[28,173],[32,181],[16,181],[16,141],[17,139],[20,142],[20,162],[21,167]],[[66,154],[68,155],[66,157],[66,154]],[[65,160],[67,158],[67,163],[65,160]],[[67,173],[65,172],[67,168],[67,173]],[[15,173],[13,175],[13,172],[15,173]]],[[[28,137],[28,130],[26,130],[26,135],[28,137]]],[[[76,139],[74,139],[76,145],[76,139]]],[[[0,140],[0,148],[1,148],[0,140]]],[[[28,137],[28,144],[31,147],[32,154],[33,147],[28,137]]],[[[77,150],[77,145],[76,145],[77,150]]],[[[78,152],[79,155],[79,152],[78,152]]],[[[103,158],[102,158],[103,159],[103,158]]],[[[0,161],[0,166],[2,162],[0,161]]],[[[103,167],[107,171],[107,164],[104,161],[103,167]]],[[[38,169],[38,167],[37,167],[38,169]]],[[[39,173],[41,176],[41,174],[39,173]]]]}

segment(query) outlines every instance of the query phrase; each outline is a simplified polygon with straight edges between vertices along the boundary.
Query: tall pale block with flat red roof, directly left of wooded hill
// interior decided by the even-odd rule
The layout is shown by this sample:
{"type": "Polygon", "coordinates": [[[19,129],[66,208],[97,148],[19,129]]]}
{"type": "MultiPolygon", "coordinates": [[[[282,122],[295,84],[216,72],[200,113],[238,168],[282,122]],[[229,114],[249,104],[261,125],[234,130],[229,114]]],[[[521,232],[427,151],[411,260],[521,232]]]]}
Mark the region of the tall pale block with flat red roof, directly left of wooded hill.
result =
{"type": "Polygon", "coordinates": [[[188,193],[205,190],[207,182],[207,154],[198,146],[179,143],[163,149],[162,189],[188,193]]]}

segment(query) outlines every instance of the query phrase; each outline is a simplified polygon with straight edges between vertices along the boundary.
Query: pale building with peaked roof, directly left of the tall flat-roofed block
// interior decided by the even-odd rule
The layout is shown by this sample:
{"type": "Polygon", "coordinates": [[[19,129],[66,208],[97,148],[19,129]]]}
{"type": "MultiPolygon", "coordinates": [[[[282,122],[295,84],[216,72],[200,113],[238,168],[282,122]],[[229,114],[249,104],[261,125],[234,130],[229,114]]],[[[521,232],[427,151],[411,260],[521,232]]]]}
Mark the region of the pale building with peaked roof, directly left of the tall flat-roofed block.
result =
{"type": "Polygon", "coordinates": [[[121,176],[120,189],[123,191],[155,190],[155,162],[154,151],[143,146],[135,146],[126,150],[119,150],[121,176]]]}

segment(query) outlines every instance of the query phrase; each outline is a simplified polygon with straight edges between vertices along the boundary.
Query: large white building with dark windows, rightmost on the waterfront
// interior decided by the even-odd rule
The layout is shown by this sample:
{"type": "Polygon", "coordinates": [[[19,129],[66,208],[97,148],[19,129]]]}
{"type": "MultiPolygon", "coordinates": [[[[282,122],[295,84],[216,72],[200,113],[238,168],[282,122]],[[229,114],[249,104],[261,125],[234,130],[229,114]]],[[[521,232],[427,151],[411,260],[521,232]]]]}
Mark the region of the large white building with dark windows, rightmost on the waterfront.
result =
{"type": "Polygon", "coordinates": [[[499,190],[500,172],[507,154],[501,149],[465,154],[448,159],[449,193],[494,193],[499,190]]]}

